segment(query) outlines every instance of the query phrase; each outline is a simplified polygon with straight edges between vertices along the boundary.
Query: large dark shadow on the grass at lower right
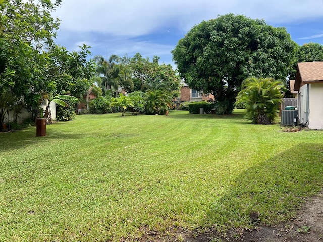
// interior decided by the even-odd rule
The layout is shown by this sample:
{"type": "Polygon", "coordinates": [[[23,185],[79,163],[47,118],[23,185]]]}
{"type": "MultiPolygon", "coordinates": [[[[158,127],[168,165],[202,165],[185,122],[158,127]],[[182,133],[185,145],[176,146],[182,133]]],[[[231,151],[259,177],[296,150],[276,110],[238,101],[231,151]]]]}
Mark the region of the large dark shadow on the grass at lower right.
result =
{"type": "Polygon", "coordinates": [[[305,197],[321,191],[322,174],[323,144],[297,144],[233,180],[200,221],[201,229],[224,234],[228,228],[254,228],[290,219],[305,197]]]}

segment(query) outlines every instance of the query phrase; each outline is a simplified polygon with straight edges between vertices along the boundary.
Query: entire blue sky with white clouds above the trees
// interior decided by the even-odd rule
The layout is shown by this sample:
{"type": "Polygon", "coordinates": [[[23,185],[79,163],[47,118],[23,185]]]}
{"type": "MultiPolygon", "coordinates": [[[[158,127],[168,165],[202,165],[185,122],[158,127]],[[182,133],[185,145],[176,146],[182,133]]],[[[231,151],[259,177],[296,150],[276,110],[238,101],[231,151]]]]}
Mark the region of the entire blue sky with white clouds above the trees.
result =
{"type": "Polygon", "coordinates": [[[285,27],[299,45],[323,44],[323,0],[62,0],[52,15],[61,19],[56,43],[92,57],[111,54],[160,57],[171,64],[179,39],[203,20],[227,13],[285,27]]]}

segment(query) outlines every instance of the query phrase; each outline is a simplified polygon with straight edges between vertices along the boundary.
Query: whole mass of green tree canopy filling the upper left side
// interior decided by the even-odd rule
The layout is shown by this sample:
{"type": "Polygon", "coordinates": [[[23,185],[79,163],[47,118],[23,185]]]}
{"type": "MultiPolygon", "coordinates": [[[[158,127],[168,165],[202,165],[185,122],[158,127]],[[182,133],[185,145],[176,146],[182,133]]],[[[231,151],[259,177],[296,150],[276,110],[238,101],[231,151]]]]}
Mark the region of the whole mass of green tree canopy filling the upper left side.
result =
{"type": "MultiPolygon", "coordinates": [[[[34,112],[38,112],[41,99],[62,94],[63,90],[79,97],[89,88],[93,73],[93,63],[86,59],[88,46],[68,52],[53,41],[59,20],[51,12],[60,3],[0,1],[0,97],[22,100],[34,112]]],[[[1,123],[2,113],[13,109],[2,100],[1,123]]]]}

